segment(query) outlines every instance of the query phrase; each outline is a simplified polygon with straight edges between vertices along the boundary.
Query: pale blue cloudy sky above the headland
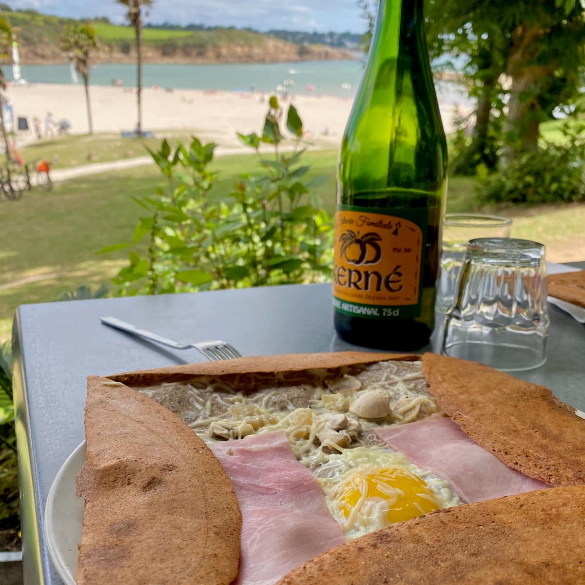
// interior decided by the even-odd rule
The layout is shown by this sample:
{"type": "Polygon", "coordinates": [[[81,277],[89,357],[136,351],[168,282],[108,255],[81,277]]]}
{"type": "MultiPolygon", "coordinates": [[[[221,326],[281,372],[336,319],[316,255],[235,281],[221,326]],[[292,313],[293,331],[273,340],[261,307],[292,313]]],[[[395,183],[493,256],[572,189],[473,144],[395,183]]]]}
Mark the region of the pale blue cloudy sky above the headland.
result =
{"type": "MultiPolygon", "coordinates": [[[[122,23],[123,6],[115,0],[4,0],[12,8],[71,18],[107,16],[122,23]]],[[[287,29],[308,32],[362,33],[357,0],[156,0],[147,22],[287,29]]]]}

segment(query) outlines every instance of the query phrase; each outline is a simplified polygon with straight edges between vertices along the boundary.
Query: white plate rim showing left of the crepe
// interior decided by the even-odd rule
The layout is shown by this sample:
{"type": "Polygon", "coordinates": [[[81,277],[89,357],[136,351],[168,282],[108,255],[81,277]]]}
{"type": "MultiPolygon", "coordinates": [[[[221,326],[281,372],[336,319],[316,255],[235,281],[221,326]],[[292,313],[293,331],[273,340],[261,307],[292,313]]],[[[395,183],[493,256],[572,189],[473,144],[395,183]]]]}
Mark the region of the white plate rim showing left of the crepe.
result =
{"type": "Polygon", "coordinates": [[[85,441],[63,463],[44,508],[47,549],[65,585],[75,585],[77,574],[77,544],[81,540],[84,499],[75,497],[75,477],[84,462],[85,441]]]}

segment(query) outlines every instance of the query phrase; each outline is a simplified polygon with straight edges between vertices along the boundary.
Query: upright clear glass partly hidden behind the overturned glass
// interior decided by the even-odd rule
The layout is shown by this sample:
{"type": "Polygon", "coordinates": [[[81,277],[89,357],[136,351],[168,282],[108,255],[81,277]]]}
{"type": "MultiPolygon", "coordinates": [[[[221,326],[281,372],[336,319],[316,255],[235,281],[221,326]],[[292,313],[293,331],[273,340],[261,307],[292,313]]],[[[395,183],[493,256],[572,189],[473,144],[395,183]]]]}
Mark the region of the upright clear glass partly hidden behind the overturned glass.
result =
{"type": "Polygon", "coordinates": [[[443,222],[443,251],[435,309],[445,313],[453,298],[467,242],[472,238],[508,238],[512,220],[500,215],[446,214],[443,222]]]}

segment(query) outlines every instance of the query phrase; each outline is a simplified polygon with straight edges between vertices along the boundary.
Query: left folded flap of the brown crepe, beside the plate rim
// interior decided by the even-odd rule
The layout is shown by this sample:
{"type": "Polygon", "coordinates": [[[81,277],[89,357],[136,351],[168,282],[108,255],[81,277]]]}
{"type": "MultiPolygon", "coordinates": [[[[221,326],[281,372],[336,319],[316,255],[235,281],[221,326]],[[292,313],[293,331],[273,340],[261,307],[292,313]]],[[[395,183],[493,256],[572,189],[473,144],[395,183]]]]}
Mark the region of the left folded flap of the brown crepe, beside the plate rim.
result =
{"type": "Polygon", "coordinates": [[[180,418],[121,383],[90,376],[77,583],[228,585],[242,517],[211,450],[180,418]]]}

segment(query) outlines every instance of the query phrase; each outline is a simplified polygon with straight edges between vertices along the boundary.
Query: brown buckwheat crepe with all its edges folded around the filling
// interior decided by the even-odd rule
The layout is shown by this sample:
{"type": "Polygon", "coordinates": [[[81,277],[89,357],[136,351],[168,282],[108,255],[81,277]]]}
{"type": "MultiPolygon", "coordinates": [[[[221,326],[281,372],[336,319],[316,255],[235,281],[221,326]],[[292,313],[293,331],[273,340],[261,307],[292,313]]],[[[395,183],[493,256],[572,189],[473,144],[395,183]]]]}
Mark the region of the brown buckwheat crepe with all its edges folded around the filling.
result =
{"type": "MultiPolygon", "coordinates": [[[[136,390],[191,383],[198,376],[229,383],[237,378],[253,390],[257,378],[246,374],[310,377],[307,370],[420,359],[295,354],[89,378],[88,463],[79,480],[87,508],[78,583],[152,582],[152,559],[162,572],[168,555],[173,583],[227,585],[237,574],[238,502],[221,465],[183,421],[136,390]],[[106,521],[106,515],[115,520],[106,521]]],[[[548,389],[432,354],[422,357],[422,367],[449,417],[508,467],[550,485],[585,484],[585,421],[548,389]]],[[[281,583],[542,583],[527,578],[533,573],[568,582],[567,574],[583,570],[575,559],[577,548],[582,553],[585,546],[573,543],[581,538],[584,507],[585,487],[579,486],[450,508],[332,549],[281,583]],[[508,570],[510,579],[504,579],[508,570]]]]}

